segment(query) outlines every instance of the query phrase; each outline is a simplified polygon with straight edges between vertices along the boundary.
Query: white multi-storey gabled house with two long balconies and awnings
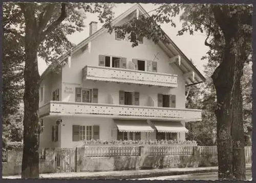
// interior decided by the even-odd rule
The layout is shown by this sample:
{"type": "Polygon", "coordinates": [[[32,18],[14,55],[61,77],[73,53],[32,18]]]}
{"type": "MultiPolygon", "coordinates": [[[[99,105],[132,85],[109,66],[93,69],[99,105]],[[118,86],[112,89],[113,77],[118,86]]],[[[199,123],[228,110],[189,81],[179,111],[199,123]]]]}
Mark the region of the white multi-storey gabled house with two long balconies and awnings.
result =
{"type": "MultiPolygon", "coordinates": [[[[113,24],[145,13],[136,4],[113,24]]],[[[91,139],[185,140],[185,122],[201,120],[201,110],[185,108],[185,86],[205,78],[173,42],[142,38],[132,48],[91,22],[89,37],[59,59],[67,62],[60,73],[48,68],[41,76],[40,147],[76,147],[91,139]]]]}

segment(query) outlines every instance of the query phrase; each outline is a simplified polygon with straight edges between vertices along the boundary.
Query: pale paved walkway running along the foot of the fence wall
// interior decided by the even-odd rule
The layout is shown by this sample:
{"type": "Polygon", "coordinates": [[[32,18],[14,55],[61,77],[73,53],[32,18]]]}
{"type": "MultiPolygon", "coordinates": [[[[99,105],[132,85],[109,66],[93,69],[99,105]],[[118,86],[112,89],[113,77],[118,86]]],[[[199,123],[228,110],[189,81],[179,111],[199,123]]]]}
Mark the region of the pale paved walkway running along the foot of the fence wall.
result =
{"type": "MultiPolygon", "coordinates": [[[[251,164],[246,165],[246,170],[251,169],[251,164]]],[[[182,175],[191,173],[216,172],[218,167],[198,167],[198,168],[166,168],[153,170],[123,170],[106,172],[67,172],[40,174],[40,178],[51,179],[136,179],[145,177],[182,175]]],[[[21,178],[20,175],[3,176],[3,179],[21,178]]]]}

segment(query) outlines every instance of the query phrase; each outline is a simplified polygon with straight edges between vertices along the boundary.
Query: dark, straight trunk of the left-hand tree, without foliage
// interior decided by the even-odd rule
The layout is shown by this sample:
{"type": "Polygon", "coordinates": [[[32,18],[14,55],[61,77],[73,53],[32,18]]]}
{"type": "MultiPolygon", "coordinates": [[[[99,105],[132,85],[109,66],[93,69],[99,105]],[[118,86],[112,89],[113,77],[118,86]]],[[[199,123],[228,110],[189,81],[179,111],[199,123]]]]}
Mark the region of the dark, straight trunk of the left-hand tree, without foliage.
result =
{"type": "Polygon", "coordinates": [[[33,24],[27,22],[25,37],[24,148],[22,178],[39,178],[39,73],[38,39],[33,24]]]}

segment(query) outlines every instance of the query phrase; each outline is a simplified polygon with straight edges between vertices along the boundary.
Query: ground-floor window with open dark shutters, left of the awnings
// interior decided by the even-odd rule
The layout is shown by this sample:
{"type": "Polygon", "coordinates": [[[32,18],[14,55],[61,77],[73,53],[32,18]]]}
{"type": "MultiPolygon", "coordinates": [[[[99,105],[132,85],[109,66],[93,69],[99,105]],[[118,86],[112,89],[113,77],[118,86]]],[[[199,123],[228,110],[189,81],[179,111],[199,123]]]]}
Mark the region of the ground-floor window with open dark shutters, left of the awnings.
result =
{"type": "Polygon", "coordinates": [[[72,134],[72,141],[90,141],[92,139],[99,140],[99,126],[73,125],[72,134]]]}

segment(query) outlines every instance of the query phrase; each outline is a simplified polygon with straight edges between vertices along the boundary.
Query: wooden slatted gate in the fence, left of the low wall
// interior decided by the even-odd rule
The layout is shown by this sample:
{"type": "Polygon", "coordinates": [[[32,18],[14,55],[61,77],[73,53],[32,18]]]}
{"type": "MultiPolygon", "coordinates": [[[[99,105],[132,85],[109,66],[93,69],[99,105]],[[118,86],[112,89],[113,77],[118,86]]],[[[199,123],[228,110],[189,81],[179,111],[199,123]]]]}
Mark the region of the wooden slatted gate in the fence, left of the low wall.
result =
{"type": "Polygon", "coordinates": [[[55,167],[57,173],[76,171],[76,149],[57,148],[55,149],[55,167]]]}

